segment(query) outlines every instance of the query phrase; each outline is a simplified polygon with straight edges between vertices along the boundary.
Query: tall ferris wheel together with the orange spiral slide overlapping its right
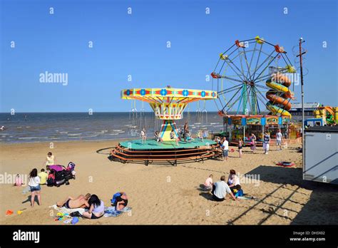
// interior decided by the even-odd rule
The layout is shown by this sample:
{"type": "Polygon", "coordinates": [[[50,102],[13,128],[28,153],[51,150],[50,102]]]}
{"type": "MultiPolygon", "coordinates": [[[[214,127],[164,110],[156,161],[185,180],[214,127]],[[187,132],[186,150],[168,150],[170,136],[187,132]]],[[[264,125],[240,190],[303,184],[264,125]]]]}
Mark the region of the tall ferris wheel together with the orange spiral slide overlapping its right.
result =
{"type": "MultiPolygon", "coordinates": [[[[212,83],[217,81],[220,115],[272,115],[290,117],[290,90],[293,73],[287,52],[256,36],[235,41],[224,53],[220,53],[212,83]]],[[[218,103],[217,103],[218,102],[218,103]]]]}

